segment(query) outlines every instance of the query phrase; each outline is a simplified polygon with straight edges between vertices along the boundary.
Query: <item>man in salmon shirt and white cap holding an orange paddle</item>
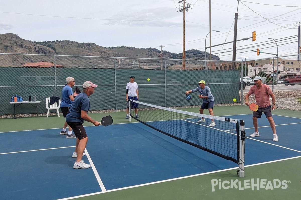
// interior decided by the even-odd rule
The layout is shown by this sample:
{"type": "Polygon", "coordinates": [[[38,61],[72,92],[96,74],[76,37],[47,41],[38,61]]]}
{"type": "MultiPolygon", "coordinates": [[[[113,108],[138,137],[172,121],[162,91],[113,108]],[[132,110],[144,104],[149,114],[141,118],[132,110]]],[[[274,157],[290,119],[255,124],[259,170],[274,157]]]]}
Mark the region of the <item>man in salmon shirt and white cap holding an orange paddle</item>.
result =
{"type": "Polygon", "coordinates": [[[273,94],[271,88],[268,85],[262,84],[262,80],[260,76],[255,76],[253,79],[255,85],[253,85],[249,92],[246,95],[246,105],[249,106],[249,96],[251,94],[255,95],[256,104],[259,106],[258,110],[256,112],[253,112],[253,125],[255,132],[250,135],[250,137],[257,137],[259,136],[258,132],[258,124],[257,124],[257,118],[261,118],[262,112],[265,114],[265,117],[270,122],[272,131],[273,131],[273,141],[278,141],[278,136],[276,133],[276,127],[275,122],[272,118],[272,110],[275,110],[276,104],[275,104],[275,95],[273,94]],[[272,105],[270,101],[270,97],[272,97],[272,105]],[[272,106],[272,110],[271,110],[272,106]]]}

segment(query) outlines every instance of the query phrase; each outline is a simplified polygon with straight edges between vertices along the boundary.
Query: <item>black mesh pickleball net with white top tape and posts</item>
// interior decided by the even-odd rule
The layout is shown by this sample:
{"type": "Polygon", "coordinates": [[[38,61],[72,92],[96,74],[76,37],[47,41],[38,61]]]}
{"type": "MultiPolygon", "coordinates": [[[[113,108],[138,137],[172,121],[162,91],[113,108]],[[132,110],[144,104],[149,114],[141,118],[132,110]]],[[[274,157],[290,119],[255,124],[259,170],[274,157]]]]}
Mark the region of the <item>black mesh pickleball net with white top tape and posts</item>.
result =
{"type": "Polygon", "coordinates": [[[135,100],[129,106],[138,105],[136,118],[133,108],[131,118],[164,133],[174,139],[194,147],[231,160],[239,165],[237,173],[244,177],[244,121],[219,116],[203,115],[162,106],[156,106],[135,100]],[[205,122],[198,122],[205,119],[205,122]],[[209,126],[212,122],[215,126],[209,126]]]}

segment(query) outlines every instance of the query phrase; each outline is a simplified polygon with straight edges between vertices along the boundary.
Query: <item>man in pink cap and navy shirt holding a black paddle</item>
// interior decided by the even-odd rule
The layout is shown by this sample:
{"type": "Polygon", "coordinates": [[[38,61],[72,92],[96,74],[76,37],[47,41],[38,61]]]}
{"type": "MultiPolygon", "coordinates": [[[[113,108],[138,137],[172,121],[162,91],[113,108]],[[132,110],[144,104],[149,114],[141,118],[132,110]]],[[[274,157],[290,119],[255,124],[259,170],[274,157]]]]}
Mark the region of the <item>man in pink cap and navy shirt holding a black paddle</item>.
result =
{"type": "Polygon", "coordinates": [[[94,93],[94,88],[96,88],[97,85],[86,81],[82,87],[83,92],[78,94],[74,99],[66,116],[66,122],[73,129],[74,135],[76,136],[76,147],[72,155],[73,158],[76,158],[76,162],[73,165],[74,169],[87,169],[91,167],[91,165],[84,163],[82,160],[82,156],[86,155],[84,151],[88,142],[88,136],[82,124],[84,121],[91,122],[95,126],[101,124],[88,116],[90,109],[90,100],[88,97],[94,93]]]}

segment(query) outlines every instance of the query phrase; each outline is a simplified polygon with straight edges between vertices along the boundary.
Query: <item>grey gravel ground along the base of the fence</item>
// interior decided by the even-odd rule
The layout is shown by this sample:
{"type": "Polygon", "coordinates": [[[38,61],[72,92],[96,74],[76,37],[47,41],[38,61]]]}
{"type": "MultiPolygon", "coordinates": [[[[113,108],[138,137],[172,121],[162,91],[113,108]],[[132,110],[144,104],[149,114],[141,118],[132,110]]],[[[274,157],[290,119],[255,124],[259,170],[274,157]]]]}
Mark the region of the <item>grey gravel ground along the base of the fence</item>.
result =
{"type": "MultiPolygon", "coordinates": [[[[245,103],[245,96],[247,93],[243,93],[244,99],[243,103],[245,103]]],[[[274,92],[276,97],[276,109],[284,109],[284,110],[296,110],[301,111],[301,103],[298,102],[299,98],[301,97],[301,90],[296,91],[276,91],[274,92]]],[[[255,96],[251,95],[249,97],[250,103],[256,103],[255,96]]],[[[271,99],[272,103],[272,99],[271,99]]],[[[214,104],[214,106],[237,106],[240,103],[221,103],[221,104],[214,104]]],[[[191,108],[191,107],[200,107],[198,106],[182,106],[177,108],[191,108]]],[[[125,112],[126,109],[117,109],[117,112],[125,112]]],[[[98,111],[89,111],[89,113],[105,113],[105,112],[115,112],[115,109],[110,110],[98,110],[98,111]]],[[[49,115],[57,115],[56,113],[50,113],[49,115]]],[[[60,113],[60,115],[63,115],[60,113]]],[[[17,117],[33,117],[36,114],[17,114],[17,117]]],[[[47,116],[47,113],[39,113],[39,116],[47,116]]],[[[12,118],[12,115],[1,115],[0,118],[12,118]]]]}

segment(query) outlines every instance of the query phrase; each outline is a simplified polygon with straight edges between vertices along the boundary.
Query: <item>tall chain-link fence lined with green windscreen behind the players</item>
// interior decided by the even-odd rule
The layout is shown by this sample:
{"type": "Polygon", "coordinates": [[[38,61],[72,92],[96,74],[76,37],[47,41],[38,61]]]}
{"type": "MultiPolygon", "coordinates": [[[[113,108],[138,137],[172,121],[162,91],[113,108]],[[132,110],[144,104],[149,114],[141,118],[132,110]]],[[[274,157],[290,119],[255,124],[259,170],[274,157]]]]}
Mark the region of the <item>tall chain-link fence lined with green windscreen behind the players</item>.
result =
{"type": "MultiPolygon", "coordinates": [[[[12,113],[9,102],[14,95],[23,100],[29,100],[29,95],[32,99],[36,96],[36,100],[41,100],[39,113],[46,113],[46,98],[61,97],[68,76],[75,78],[81,90],[85,81],[98,85],[89,97],[90,110],[125,109],[130,76],[136,77],[139,100],[145,103],[166,107],[200,105],[202,101],[196,93],[185,101],[185,91],[197,88],[200,80],[210,87],[215,104],[233,103],[234,98],[238,103],[239,90],[247,85],[240,83],[240,69],[241,62],[232,61],[205,64],[203,60],[185,60],[183,69],[182,60],[178,59],[0,54],[0,115],[12,113]]],[[[22,104],[16,112],[29,114],[35,110],[22,104]]]]}

